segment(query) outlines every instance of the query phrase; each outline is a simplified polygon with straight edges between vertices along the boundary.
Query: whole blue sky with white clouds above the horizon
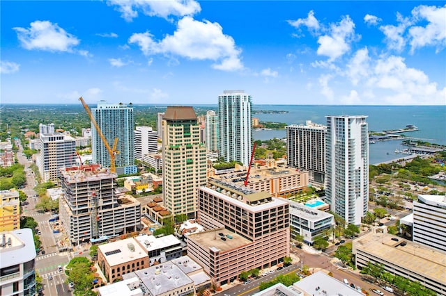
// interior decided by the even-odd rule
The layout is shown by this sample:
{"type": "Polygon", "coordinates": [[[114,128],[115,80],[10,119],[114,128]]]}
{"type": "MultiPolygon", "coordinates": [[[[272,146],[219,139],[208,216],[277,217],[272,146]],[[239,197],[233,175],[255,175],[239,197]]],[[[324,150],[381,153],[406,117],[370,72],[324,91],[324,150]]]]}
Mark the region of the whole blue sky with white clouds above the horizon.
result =
{"type": "Polygon", "coordinates": [[[446,1],[0,6],[3,104],[446,104],[446,1]]]}

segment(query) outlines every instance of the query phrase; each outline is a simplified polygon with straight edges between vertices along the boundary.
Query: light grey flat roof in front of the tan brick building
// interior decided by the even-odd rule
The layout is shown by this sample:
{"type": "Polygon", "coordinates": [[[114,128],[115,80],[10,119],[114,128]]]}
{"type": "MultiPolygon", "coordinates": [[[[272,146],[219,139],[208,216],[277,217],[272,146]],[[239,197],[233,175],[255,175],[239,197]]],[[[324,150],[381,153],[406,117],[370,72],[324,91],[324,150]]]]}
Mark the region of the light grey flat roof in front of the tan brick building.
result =
{"type": "Polygon", "coordinates": [[[153,296],[194,283],[190,277],[187,277],[178,266],[170,261],[152,266],[151,268],[144,268],[144,270],[123,274],[123,279],[131,279],[135,274],[153,296]]]}

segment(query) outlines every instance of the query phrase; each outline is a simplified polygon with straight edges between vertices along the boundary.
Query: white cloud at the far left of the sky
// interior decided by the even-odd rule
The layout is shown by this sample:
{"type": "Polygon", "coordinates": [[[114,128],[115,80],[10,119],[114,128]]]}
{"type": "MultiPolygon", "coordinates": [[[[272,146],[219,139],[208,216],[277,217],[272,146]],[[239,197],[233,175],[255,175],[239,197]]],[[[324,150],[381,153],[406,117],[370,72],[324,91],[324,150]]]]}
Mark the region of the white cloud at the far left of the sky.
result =
{"type": "Polygon", "coordinates": [[[48,21],[32,22],[29,28],[13,28],[25,49],[43,51],[68,51],[79,44],[79,39],[57,24],[48,21]]]}

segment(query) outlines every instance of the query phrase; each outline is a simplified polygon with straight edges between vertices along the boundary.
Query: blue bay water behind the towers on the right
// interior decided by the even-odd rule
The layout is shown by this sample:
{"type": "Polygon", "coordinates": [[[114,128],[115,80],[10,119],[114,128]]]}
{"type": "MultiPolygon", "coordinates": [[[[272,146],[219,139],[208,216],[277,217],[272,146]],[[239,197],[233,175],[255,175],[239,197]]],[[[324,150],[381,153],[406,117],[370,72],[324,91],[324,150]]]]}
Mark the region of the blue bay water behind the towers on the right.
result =
{"type": "MultiPolygon", "coordinates": [[[[403,129],[408,124],[417,126],[418,131],[403,133],[406,138],[423,140],[438,145],[446,145],[446,105],[445,106],[319,106],[319,105],[254,105],[252,117],[261,122],[283,122],[305,124],[311,120],[326,125],[325,116],[365,115],[369,131],[403,129]],[[259,113],[261,111],[261,113],[259,113]],[[275,111],[268,113],[268,111],[275,111]],[[286,111],[286,113],[277,113],[286,111]]],[[[286,130],[262,130],[252,132],[254,140],[286,138],[286,130]]],[[[406,147],[401,140],[376,142],[369,145],[369,163],[377,164],[401,158],[395,150],[406,147]]]]}

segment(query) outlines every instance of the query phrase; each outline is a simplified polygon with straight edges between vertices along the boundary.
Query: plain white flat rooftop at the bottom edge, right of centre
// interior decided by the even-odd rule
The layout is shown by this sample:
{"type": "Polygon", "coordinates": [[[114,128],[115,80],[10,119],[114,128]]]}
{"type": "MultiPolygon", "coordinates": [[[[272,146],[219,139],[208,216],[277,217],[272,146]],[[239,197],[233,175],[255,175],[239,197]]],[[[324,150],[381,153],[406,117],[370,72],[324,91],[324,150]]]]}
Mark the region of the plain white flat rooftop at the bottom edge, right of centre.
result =
{"type": "Polygon", "coordinates": [[[348,295],[364,296],[361,292],[351,288],[351,286],[330,277],[323,271],[318,271],[309,277],[305,277],[293,284],[294,288],[302,290],[309,295],[348,295]],[[315,293],[316,291],[316,293],[315,293]],[[324,293],[325,291],[325,293],[324,293]]]}

